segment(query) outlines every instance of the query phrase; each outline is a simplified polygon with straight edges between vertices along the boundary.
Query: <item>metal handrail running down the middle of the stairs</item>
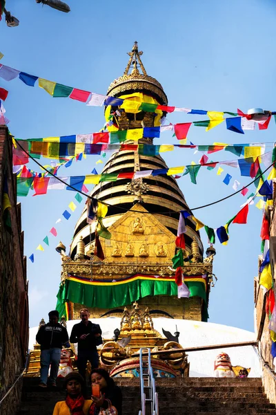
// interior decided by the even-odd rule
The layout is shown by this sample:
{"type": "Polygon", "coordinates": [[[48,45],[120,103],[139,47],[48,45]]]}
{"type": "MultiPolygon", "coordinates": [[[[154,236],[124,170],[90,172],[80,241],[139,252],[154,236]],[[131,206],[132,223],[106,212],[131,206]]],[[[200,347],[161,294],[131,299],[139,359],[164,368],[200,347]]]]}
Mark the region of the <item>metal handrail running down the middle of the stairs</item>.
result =
{"type": "Polygon", "coordinates": [[[159,415],[158,410],[158,394],[155,390],[155,378],[150,360],[150,349],[148,347],[141,347],[139,351],[140,363],[140,394],[141,394],[141,409],[139,415],[146,415],[146,403],[150,403],[150,415],[159,415]],[[147,356],[144,356],[143,351],[147,351],[147,356]],[[146,365],[145,365],[146,364],[146,365]],[[147,392],[147,394],[146,394],[147,392]]]}

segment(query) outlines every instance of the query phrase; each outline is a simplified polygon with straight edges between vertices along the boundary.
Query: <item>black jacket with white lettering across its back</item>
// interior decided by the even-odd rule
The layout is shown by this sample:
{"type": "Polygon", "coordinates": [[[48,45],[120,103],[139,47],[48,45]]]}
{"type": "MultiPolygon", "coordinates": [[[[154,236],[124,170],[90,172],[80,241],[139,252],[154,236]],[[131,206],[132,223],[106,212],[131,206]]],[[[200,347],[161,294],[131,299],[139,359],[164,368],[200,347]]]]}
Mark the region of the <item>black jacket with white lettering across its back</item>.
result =
{"type": "Polygon", "coordinates": [[[65,327],[57,323],[52,326],[50,323],[41,326],[36,336],[41,350],[57,347],[62,349],[62,345],[68,342],[68,333],[65,327]]]}

